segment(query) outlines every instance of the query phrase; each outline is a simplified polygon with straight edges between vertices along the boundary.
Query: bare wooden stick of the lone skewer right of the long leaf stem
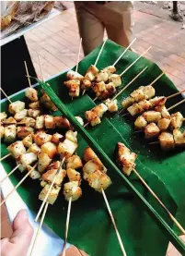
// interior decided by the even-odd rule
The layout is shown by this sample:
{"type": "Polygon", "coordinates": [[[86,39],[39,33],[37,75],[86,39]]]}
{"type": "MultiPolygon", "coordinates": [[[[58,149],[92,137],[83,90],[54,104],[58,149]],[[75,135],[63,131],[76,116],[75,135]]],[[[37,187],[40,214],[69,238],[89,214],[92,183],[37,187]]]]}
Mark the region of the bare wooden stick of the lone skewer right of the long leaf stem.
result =
{"type": "Polygon", "coordinates": [[[139,177],[139,179],[145,185],[146,189],[148,189],[150,191],[150,193],[156,198],[156,201],[158,201],[158,203],[165,209],[165,211],[168,213],[169,217],[172,219],[172,221],[175,223],[175,225],[179,227],[179,230],[182,232],[182,234],[185,235],[184,228],[179,224],[179,222],[176,220],[176,218],[168,211],[165,204],[162,201],[160,201],[160,199],[156,196],[156,193],[146,184],[143,177],[141,177],[135,169],[133,169],[133,172],[137,177],[139,177]]]}

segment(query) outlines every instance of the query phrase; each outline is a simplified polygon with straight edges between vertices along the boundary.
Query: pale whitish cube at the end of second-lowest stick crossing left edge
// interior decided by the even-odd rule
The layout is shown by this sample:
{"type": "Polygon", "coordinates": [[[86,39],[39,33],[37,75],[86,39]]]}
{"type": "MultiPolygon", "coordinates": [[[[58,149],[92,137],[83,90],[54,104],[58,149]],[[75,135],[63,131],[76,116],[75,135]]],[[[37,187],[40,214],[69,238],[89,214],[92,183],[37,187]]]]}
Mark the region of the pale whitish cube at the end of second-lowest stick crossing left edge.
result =
{"type": "Polygon", "coordinates": [[[17,164],[20,164],[18,169],[22,172],[27,170],[28,165],[32,165],[34,162],[37,161],[37,154],[34,152],[26,152],[19,156],[17,160],[17,164]]]}

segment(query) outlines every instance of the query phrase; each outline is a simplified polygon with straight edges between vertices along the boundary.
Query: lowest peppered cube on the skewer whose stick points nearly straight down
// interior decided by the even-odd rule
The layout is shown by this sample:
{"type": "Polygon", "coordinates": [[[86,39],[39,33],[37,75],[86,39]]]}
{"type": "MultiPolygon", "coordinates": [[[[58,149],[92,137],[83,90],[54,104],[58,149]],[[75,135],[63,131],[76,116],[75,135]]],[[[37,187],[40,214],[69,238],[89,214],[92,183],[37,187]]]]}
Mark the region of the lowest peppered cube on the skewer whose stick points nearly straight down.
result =
{"type": "Polygon", "coordinates": [[[78,181],[71,181],[64,184],[64,198],[69,201],[78,200],[82,196],[82,189],[78,186],[78,181]]]}

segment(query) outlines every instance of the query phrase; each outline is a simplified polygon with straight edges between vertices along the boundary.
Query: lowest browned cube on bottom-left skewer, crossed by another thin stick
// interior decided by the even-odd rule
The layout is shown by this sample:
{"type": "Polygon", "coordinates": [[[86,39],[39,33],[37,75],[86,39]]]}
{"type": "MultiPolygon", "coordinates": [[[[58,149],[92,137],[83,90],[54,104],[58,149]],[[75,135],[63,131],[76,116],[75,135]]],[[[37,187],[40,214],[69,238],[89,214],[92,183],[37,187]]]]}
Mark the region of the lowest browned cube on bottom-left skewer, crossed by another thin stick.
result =
{"type": "MultiPolygon", "coordinates": [[[[40,191],[39,199],[40,199],[41,201],[44,201],[44,199],[45,199],[45,197],[46,197],[46,195],[47,195],[49,189],[50,189],[50,185],[47,184],[47,185],[44,186],[43,189],[40,191]]],[[[53,203],[56,201],[60,190],[61,190],[61,187],[57,187],[57,188],[52,187],[52,190],[51,190],[51,192],[49,193],[49,196],[48,196],[48,198],[47,198],[47,202],[49,202],[50,204],[53,204],[53,203]]]]}

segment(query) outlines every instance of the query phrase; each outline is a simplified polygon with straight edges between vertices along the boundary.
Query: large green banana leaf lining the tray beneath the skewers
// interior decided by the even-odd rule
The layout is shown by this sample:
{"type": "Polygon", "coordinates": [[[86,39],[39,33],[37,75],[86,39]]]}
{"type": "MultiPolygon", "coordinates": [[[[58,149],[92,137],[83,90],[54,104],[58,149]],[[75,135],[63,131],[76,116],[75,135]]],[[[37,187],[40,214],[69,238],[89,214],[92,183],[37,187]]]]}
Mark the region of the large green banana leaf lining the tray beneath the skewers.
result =
{"type": "MultiPolygon", "coordinates": [[[[96,56],[98,55],[98,50],[99,48],[93,51],[79,64],[80,73],[84,74],[87,67],[95,62],[96,56]]],[[[111,43],[110,41],[106,43],[104,51],[99,59],[98,67],[102,68],[112,64],[118,55],[121,54],[121,51],[122,48],[117,44],[111,43]]],[[[118,71],[121,72],[121,70],[127,67],[133,61],[133,59],[136,58],[136,56],[137,55],[133,53],[128,53],[125,55],[125,57],[121,59],[121,62],[118,63],[118,71]]],[[[138,87],[139,85],[148,84],[159,74],[160,70],[158,67],[156,67],[156,65],[142,58],[139,65],[137,65],[137,68],[132,67],[131,71],[125,73],[123,83],[126,84],[128,81],[133,79],[134,75],[139,72],[138,70],[145,67],[145,65],[150,67],[150,71],[147,71],[148,73],[145,72],[144,76],[136,80],[133,85],[131,85],[131,88],[126,91],[127,93],[129,90],[133,90],[134,86],[138,87]]],[[[74,115],[82,116],[86,110],[92,108],[95,104],[87,95],[84,95],[72,102],[67,96],[67,91],[64,87],[65,79],[65,74],[61,74],[60,76],[51,79],[49,82],[52,89],[61,97],[68,109],[74,115]]],[[[163,85],[167,87],[167,93],[164,92],[165,95],[176,91],[167,78],[164,79],[163,85]]],[[[158,95],[160,95],[160,91],[157,91],[158,95]]],[[[25,100],[24,92],[19,93],[17,96],[12,98],[13,101],[17,99],[25,100]]],[[[177,99],[177,102],[178,101],[179,100],[177,99]]],[[[2,111],[6,111],[6,109],[7,103],[2,104],[2,111]]],[[[54,115],[57,115],[57,113],[54,113],[54,115]]],[[[178,171],[173,169],[173,179],[166,176],[168,179],[166,180],[159,176],[160,173],[168,173],[169,165],[175,166],[175,163],[182,161],[182,157],[179,158],[179,156],[183,152],[173,152],[166,157],[164,156],[164,159],[168,159],[168,165],[163,165],[163,163],[161,164],[160,160],[156,159],[157,155],[160,157],[162,155],[160,150],[147,147],[145,145],[144,138],[140,138],[141,135],[136,136],[133,134],[133,121],[129,120],[128,118],[120,118],[120,123],[117,125],[119,122],[118,116],[108,117],[109,119],[103,118],[100,126],[96,128],[87,128],[89,134],[98,142],[99,146],[104,150],[104,152],[106,152],[112,161],[115,160],[114,148],[116,142],[126,141],[125,143],[131,145],[134,152],[138,153],[138,172],[142,175],[142,177],[145,178],[149,186],[156,191],[156,194],[160,196],[161,200],[165,202],[170,212],[174,214],[179,213],[179,221],[183,222],[182,224],[184,224],[185,220],[182,215],[184,206],[183,202],[180,202],[179,198],[183,191],[181,191],[178,186],[179,180],[177,180],[176,177],[179,175],[178,171]],[[119,126],[121,126],[121,128],[125,128],[125,133],[123,133],[119,126]],[[132,137],[134,144],[132,142],[133,140],[131,140],[132,137]],[[152,161],[154,162],[153,165],[155,164],[157,171],[154,171],[153,165],[150,164],[150,159],[147,161],[147,165],[144,164],[145,158],[147,158],[149,155],[149,150],[152,154],[152,161]],[[175,162],[173,160],[174,157],[177,158],[175,162]],[[172,187],[173,193],[170,192],[172,189],[167,185],[168,183],[172,187]]],[[[77,152],[79,155],[82,155],[84,148],[87,146],[87,142],[81,137],[80,134],[78,140],[79,147],[77,152]]],[[[1,152],[2,155],[6,154],[6,145],[2,144],[1,152]]],[[[3,164],[6,168],[6,172],[9,172],[13,166],[15,166],[14,160],[10,158],[5,160],[3,164]]],[[[127,254],[151,256],[165,255],[169,239],[168,236],[166,237],[164,235],[165,229],[156,226],[156,223],[153,221],[151,216],[145,212],[142,204],[136,200],[133,194],[125,188],[123,180],[119,174],[113,171],[110,166],[107,167],[109,168],[108,174],[110,175],[113,183],[110,188],[106,190],[106,194],[108,200],[110,201],[110,208],[121,233],[121,238],[127,254]]],[[[180,172],[181,176],[179,179],[181,179],[181,184],[184,184],[185,179],[181,173],[182,172],[180,172]]],[[[17,172],[15,175],[11,176],[11,180],[14,184],[17,184],[20,177],[21,174],[17,172]]],[[[154,207],[154,209],[156,209],[156,212],[163,217],[167,224],[172,226],[167,213],[165,213],[164,210],[158,205],[156,200],[145,189],[138,178],[132,175],[129,177],[129,180],[135,189],[138,189],[145,199],[154,207]]],[[[184,185],[181,187],[182,190],[183,186],[184,185]]],[[[107,212],[102,195],[95,192],[93,189],[90,189],[86,182],[82,183],[82,189],[83,197],[79,201],[72,204],[68,238],[69,242],[75,244],[82,250],[87,251],[89,255],[121,255],[121,250],[115,235],[115,231],[110,222],[110,216],[107,212]]],[[[17,189],[17,191],[23,200],[26,201],[32,211],[37,212],[39,210],[40,201],[37,200],[38,194],[40,193],[39,181],[32,181],[28,178],[22,184],[22,186],[17,189]]],[[[64,201],[64,197],[61,192],[56,203],[49,208],[45,218],[46,224],[48,224],[52,230],[62,238],[64,238],[66,209],[67,202],[64,201]]],[[[181,253],[184,252],[182,248],[183,246],[179,246],[181,253]]]]}

